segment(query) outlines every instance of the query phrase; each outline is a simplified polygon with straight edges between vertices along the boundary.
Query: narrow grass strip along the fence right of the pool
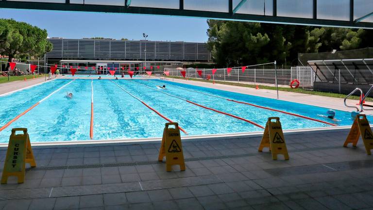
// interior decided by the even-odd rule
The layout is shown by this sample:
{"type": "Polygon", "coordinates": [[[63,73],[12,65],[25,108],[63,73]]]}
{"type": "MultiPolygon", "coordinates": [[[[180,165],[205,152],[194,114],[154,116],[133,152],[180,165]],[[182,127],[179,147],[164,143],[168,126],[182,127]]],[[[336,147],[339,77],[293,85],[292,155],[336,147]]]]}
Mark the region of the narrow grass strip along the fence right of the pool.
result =
{"type": "MultiPolygon", "coordinates": [[[[168,76],[168,77],[175,78],[175,79],[182,79],[182,78],[177,77],[177,76],[168,76]]],[[[203,80],[203,79],[196,79],[196,78],[188,78],[188,80],[200,81],[200,82],[207,82],[207,83],[212,83],[213,82],[212,80],[203,80]]],[[[255,85],[248,85],[248,84],[234,83],[234,82],[215,81],[215,83],[217,83],[217,84],[223,84],[223,85],[245,87],[245,88],[256,88],[255,85]]],[[[259,89],[275,90],[276,87],[259,85],[259,89]]],[[[345,94],[320,92],[320,91],[313,91],[313,90],[304,90],[302,88],[291,89],[291,88],[281,88],[281,87],[279,87],[278,90],[280,90],[280,91],[287,91],[287,92],[304,93],[304,94],[309,94],[309,95],[327,96],[327,97],[333,97],[333,98],[344,98],[344,97],[346,97],[345,94]]],[[[358,100],[360,100],[360,97],[359,96],[351,96],[349,99],[353,99],[353,100],[357,100],[358,101],[358,100]]],[[[365,101],[373,102],[373,98],[367,97],[365,99],[365,101]]]]}

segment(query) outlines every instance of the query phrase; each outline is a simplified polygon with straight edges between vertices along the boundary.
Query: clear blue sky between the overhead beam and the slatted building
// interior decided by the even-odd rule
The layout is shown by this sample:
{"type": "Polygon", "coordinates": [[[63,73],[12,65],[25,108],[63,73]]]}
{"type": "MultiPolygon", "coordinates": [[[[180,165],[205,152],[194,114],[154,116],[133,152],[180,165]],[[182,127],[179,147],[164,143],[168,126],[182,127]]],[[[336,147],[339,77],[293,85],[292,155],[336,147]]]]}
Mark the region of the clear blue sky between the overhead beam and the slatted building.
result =
{"type": "Polygon", "coordinates": [[[13,18],[47,29],[50,37],[139,40],[146,32],[150,40],[207,41],[205,18],[19,9],[0,9],[0,18],[13,18]]]}

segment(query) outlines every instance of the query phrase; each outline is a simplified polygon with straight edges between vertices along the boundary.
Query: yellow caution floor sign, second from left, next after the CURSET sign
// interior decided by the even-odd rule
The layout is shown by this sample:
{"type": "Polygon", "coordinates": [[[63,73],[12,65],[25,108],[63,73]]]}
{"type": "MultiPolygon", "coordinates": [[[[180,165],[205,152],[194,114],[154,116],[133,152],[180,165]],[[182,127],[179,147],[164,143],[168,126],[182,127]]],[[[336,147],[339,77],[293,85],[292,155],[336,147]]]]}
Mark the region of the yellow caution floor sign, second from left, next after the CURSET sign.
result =
{"type": "Polygon", "coordinates": [[[172,165],[180,165],[180,170],[185,171],[183,147],[181,145],[178,123],[166,123],[166,127],[163,130],[158,160],[163,161],[163,157],[165,156],[167,171],[171,171],[172,165]],[[175,128],[170,128],[169,125],[174,125],[175,128]]]}

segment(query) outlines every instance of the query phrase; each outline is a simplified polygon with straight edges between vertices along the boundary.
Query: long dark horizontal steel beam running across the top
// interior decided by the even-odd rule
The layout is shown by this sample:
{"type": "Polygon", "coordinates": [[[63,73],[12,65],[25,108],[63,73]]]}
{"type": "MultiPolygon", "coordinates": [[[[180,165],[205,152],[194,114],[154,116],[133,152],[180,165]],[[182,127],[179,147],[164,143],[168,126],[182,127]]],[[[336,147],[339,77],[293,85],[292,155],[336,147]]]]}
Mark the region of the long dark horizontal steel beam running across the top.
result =
{"type": "MultiPolygon", "coordinates": [[[[183,2],[183,0],[180,0],[183,2]]],[[[276,0],[273,0],[275,3],[276,0]]],[[[273,12],[277,10],[276,5],[273,5],[273,12]]],[[[373,29],[373,23],[370,22],[351,22],[343,20],[325,20],[313,18],[289,18],[263,15],[249,14],[233,14],[223,12],[210,11],[195,11],[184,10],[184,5],[181,4],[181,9],[166,9],[166,8],[150,8],[150,7],[127,7],[112,6],[112,5],[93,5],[93,4],[66,4],[66,3],[45,3],[32,1],[7,1],[0,0],[0,8],[13,9],[36,9],[36,10],[59,10],[59,11],[82,11],[82,12],[107,12],[107,13],[128,13],[128,14],[146,14],[146,15],[165,15],[165,16],[182,16],[196,18],[210,18],[223,20],[237,20],[250,22],[267,22],[281,23],[292,25],[311,25],[311,26],[330,26],[330,27],[347,27],[347,28],[367,28],[373,29]]]]}

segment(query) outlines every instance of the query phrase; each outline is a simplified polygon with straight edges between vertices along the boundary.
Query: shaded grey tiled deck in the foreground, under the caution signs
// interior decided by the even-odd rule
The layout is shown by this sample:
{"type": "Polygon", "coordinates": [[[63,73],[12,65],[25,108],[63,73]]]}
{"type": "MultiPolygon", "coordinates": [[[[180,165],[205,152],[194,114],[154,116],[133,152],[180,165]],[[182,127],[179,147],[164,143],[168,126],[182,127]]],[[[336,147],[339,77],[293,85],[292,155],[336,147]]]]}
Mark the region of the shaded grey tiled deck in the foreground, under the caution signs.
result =
{"type": "MultiPolygon", "coordinates": [[[[166,172],[160,143],[34,148],[24,184],[0,186],[3,210],[323,210],[373,208],[373,157],[347,132],[286,134],[290,160],[260,138],[188,141],[186,171],[166,172]],[[117,163],[117,164],[113,164],[117,163]]],[[[0,151],[4,158],[5,151],[0,151]]],[[[15,179],[10,179],[10,183],[15,179]]],[[[0,209],[1,209],[0,208],[0,209]]]]}

